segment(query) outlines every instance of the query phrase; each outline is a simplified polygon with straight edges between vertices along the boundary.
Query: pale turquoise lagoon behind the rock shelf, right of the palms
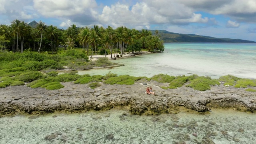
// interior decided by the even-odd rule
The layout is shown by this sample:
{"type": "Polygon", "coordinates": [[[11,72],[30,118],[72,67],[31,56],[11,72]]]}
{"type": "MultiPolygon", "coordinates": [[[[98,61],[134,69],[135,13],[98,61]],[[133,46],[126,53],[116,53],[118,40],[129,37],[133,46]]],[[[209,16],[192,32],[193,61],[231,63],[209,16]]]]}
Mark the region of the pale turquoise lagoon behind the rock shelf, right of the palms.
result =
{"type": "Polygon", "coordinates": [[[125,64],[111,70],[88,70],[79,74],[129,74],[152,77],[198,74],[219,78],[234,75],[256,79],[256,44],[246,43],[166,43],[157,54],[113,60],[125,64]]]}

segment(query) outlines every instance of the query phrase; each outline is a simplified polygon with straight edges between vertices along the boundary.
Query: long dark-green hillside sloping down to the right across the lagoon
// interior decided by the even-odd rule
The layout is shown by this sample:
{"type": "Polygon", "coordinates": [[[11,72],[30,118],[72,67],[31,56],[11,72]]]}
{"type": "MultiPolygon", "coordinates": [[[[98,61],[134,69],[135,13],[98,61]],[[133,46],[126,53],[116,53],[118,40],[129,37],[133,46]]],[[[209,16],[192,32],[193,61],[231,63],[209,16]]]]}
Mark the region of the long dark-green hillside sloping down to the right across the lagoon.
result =
{"type": "MultiPolygon", "coordinates": [[[[155,35],[156,30],[150,30],[155,35]]],[[[231,38],[214,38],[210,36],[200,36],[196,34],[178,34],[166,30],[158,30],[161,40],[164,42],[237,42],[237,43],[256,43],[250,40],[231,39],[231,38]]]]}

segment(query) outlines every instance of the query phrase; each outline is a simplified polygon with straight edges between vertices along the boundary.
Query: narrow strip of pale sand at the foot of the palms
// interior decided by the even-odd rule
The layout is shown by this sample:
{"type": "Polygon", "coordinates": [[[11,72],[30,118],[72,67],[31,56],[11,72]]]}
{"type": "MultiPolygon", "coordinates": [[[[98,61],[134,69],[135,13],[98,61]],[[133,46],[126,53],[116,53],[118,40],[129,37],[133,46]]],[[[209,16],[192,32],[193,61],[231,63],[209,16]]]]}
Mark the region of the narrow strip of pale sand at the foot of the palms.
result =
{"type": "MultiPolygon", "coordinates": [[[[132,57],[132,56],[141,56],[142,54],[152,54],[152,52],[147,52],[147,51],[142,51],[142,52],[134,52],[134,53],[125,53],[122,57],[119,56],[119,58],[128,58],[128,57],[132,57]]],[[[102,58],[102,57],[106,57],[110,60],[112,60],[114,58],[114,54],[112,54],[112,58],[111,58],[111,55],[108,54],[108,55],[94,55],[92,56],[92,58],[90,58],[91,56],[89,56],[89,60],[97,60],[98,58],[102,58]]],[[[117,58],[118,59],[118,58],[117,58]]]]}

